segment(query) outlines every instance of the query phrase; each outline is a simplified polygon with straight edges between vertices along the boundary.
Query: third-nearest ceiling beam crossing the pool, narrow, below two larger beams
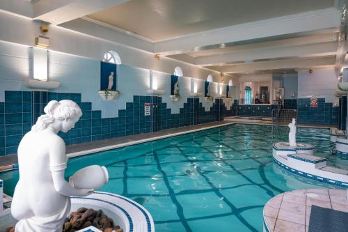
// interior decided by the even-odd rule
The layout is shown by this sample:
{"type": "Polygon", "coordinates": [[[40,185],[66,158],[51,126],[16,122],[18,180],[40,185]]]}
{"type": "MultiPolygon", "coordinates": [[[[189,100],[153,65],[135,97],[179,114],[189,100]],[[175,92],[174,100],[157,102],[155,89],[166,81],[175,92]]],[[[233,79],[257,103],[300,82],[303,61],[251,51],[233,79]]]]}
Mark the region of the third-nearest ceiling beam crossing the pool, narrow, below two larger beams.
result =
{"type": "Polygon", "coordinates": [[[277,70],[289,68],[317,68],[335,65],[335,56],[318,59],[287,59],[229,65],[221,68],[224,73],[246,73],[258,70],[277,70]]]}

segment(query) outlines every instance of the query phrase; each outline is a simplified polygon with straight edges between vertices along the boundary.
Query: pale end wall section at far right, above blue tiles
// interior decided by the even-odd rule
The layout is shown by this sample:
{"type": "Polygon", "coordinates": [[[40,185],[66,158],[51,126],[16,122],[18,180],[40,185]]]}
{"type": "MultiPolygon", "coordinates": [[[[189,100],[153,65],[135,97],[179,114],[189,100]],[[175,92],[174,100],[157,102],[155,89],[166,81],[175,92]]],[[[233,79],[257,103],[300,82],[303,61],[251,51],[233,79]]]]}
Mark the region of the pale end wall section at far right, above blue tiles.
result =
{"type": "Polygon", "coordinates": [[[333,102],[337,89],[338,79],[334,69],[317,69],[313,73],[308,70],[299,70],[298,98],[325,98],[326,102],[333,102]]]}

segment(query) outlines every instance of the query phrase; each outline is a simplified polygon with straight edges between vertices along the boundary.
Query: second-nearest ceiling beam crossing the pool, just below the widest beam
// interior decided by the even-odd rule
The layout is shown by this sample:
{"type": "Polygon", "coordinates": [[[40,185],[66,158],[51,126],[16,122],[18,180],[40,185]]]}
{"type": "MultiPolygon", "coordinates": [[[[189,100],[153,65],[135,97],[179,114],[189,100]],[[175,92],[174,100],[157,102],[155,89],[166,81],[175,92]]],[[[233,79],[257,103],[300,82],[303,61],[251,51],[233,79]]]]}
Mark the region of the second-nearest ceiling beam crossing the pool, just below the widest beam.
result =
{"type": "Polygon", "coordinates": [[[287,47],[271,47],[261,49],[248,49],[228,54],[216,54],[196,58],[196,65],[219,65],[238,61],[254,61],[258,59],[276,59],[283,57],[310,57],[329,56],[337,52],[337,42],[323,42],[313,45],[299,45],[287,47]]]}

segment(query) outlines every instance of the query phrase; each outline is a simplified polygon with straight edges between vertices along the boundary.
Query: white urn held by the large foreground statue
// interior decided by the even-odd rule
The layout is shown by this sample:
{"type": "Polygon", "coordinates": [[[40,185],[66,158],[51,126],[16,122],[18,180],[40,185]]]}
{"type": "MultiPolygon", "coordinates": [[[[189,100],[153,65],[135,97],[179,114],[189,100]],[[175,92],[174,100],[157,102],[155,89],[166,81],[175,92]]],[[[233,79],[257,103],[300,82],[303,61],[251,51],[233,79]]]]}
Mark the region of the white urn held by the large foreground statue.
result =
{"type": "Polygon", "coordinates": [[[69,183],[76,189],[98,190],[109,180],[109,173],[104,166],[92,165],[80,169],[70,176],[69,183]]]}

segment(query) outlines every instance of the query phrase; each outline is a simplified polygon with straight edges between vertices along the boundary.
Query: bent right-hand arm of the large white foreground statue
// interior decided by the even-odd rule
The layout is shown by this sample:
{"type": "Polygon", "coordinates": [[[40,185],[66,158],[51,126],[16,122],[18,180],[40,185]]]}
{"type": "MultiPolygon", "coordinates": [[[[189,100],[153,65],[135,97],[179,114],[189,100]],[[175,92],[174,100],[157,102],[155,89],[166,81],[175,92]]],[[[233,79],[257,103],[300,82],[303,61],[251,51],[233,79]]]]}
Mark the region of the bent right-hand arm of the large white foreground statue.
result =
{"type": "Polygon", "coordinates": [[[61,138],[57,138],[54,144],[51,144],[49,150],[49,169],[52,173],[54,189],[65,196],[87,196],[92,193],[92,189],[74,189],[64,178],[64,171],[68,157],[65,155],[65,144],[61,138]]]}

